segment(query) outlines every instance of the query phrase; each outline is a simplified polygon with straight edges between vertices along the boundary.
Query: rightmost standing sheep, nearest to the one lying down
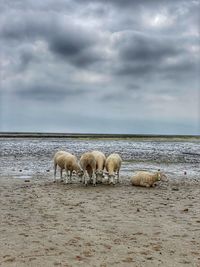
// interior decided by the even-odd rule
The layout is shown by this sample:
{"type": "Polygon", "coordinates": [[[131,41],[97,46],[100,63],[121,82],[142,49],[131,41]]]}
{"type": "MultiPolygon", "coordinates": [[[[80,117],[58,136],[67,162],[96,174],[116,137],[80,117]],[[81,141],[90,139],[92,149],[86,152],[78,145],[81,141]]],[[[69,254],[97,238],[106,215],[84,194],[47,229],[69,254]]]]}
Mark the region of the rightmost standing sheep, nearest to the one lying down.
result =
{"type": "Polygon", "coordinates": [[[105,167],[108,174],[109,184],[115,184],[115,173],[117,173],[117,182],[119,182],[119,170],[121,168],[122,159],[119,154],[110,154],[105,162],[105,167]]]}

